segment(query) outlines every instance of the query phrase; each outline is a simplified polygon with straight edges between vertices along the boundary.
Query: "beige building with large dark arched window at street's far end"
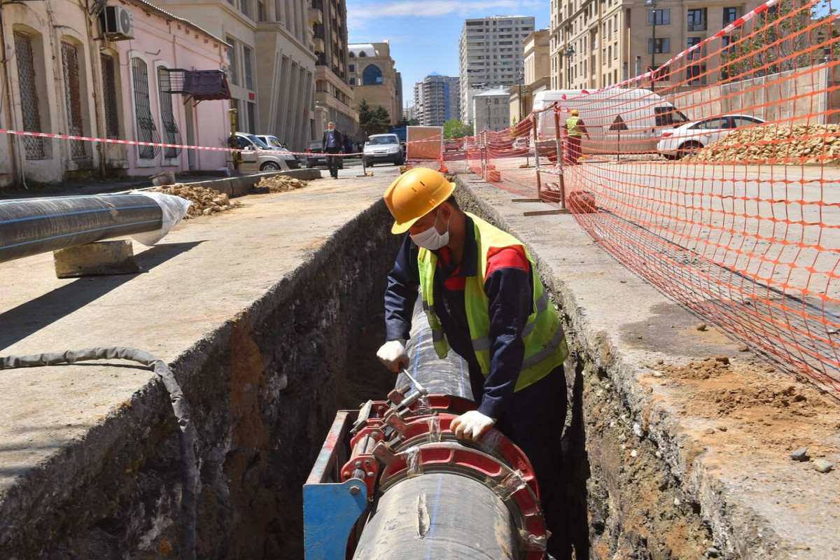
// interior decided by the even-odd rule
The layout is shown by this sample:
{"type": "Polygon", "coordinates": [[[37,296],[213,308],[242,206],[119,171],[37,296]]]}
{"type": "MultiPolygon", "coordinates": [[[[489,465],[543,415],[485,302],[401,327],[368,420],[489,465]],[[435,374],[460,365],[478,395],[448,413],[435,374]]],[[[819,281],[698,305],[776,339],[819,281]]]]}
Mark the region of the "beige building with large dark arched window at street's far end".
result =
{"type": "Polygon", "coordinates": [[[402,77],[394,67],[388,41],[350,44],[349,76],[357,111],[364,99],[371,107],[385,107],[391,123],[402,118],[402,77]]]}

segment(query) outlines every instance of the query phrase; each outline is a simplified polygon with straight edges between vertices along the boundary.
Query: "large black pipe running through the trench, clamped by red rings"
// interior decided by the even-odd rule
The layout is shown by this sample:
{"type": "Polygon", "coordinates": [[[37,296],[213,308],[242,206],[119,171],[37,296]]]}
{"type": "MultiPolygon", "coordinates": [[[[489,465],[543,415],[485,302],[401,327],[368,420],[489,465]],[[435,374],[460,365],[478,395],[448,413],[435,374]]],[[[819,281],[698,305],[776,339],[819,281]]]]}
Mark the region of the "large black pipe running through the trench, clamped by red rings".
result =
{"type": "MultiPolygon", "coordinates": [[[[407,351],[409,371],[429,394],[472,399],[463,360],[435,353],[419,298],[407,351]]],[[[396,386],[410,383],[400,374],[396,386]]],[[[511,512],[493,490],[462,474],[430,473],[402,479],[378,496],[354,560],[518,558],[518,540],[511,512]]]]}

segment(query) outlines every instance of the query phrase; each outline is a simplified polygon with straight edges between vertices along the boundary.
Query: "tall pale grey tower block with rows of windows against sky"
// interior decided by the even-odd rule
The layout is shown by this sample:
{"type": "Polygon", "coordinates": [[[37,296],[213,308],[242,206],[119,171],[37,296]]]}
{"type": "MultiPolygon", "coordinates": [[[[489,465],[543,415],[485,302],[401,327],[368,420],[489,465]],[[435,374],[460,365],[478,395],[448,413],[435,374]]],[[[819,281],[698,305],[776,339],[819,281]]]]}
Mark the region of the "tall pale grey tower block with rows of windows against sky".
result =
{"type": "Polygon", "coordinates": [[[464,22],[459,43],[464,123],[474,118],[473,90],[507,89],[522,80],[522,41],[533,32],[533,25],[534,18],[528,16],[492,16],[464,22]]]}

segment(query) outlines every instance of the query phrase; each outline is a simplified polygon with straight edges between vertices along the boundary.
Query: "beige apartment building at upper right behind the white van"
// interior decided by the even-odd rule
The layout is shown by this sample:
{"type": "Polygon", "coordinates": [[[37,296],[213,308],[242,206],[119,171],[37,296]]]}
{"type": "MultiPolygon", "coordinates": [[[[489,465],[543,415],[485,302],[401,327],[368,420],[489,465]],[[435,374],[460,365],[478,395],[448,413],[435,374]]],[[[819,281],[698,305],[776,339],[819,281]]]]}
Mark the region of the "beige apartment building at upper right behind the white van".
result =
{"type": "MultiPolygon", "coordinates": [[[[652,63],[659,67],[760,3],[656,2],[654,41],[654,7],[644,0],[551,0],[551,89],[596,89],[643,74],[652,63]]],[[[719,81],[720,57],[714,51],[727,40],[679,60],[669,79],[655,86],[681,83],[690,89],[719,81]]]]}

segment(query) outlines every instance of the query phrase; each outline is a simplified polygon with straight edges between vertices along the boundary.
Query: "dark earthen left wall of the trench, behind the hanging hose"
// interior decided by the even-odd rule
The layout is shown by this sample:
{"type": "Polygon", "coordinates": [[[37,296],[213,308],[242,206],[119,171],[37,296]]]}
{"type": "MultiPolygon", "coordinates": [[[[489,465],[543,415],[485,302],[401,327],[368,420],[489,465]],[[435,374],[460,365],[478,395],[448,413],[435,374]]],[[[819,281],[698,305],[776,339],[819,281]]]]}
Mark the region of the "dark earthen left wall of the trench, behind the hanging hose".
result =
{"type": "MultiPolygon", "coordinates": [[[[367,366],[399,243],[387,214],[361,212],[171,364],[199,436],[198,557],[302,557],[302,483],[323,435],[380,392],[383,369],[367,366]]],[[[177,557],[179,457],[152,381],[3,495],[0,557],[177,557]]]]}

